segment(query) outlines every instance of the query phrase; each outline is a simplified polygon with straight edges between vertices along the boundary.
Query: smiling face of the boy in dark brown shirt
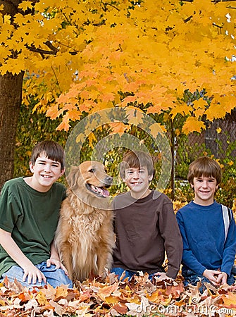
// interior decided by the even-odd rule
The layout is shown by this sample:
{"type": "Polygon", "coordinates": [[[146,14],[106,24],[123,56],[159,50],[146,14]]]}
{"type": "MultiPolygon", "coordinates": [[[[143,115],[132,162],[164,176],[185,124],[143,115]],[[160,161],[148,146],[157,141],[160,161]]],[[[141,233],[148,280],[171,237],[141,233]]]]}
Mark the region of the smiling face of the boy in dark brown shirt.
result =
{"type": "Polygon", "coordinates": [[[130,188],[130,194],[135,199],[147,197],[149,194],[149,182],[153,176],[148,175],[147,167],[127,168],[125,169],[125,178],[123,181],[130,188]]]}

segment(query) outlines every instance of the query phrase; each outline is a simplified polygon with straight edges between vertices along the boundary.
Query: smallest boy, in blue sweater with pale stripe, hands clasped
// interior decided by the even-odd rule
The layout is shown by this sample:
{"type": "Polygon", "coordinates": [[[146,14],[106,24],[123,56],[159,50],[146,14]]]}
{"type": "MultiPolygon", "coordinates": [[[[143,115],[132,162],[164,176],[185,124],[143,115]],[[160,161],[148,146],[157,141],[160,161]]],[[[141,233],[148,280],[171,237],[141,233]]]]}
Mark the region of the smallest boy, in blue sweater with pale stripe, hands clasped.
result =
{"type": "Polygon", "coordinates": [[[184,284],[211,282],[215,286],[235,282],[231,273],[236,252],[236,228],[232,211],[214,200],[221,182],[221,167],[208,157],[190,164],[187,180],[194,199],[176,214],[183,241],[184,284]],[[228,212],[229,211],[229,212],[228,212]]]}

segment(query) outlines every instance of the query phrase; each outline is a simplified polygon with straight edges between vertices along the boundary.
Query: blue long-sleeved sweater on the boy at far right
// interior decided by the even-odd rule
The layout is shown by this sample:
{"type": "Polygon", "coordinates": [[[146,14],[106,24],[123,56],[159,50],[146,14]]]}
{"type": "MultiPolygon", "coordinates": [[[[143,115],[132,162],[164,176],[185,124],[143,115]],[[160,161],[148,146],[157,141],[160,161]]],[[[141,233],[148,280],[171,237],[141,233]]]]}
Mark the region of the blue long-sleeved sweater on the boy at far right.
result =
{"type": "Polygon", "coordinates": [[[206,269],[230,275],[235,261],[236,228],[232,216],[225,240],[221,204],[201,206],[193,201],[176,214],[183,242],[182,271],[202,275],[206,269]]]}

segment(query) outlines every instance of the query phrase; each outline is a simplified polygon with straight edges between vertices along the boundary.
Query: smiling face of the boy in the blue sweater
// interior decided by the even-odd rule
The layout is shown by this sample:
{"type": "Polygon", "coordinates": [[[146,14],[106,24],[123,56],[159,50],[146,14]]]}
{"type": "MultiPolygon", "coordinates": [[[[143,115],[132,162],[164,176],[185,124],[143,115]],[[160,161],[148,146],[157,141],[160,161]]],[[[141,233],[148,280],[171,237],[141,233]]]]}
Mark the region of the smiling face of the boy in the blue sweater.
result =
{"type": "Polygon", "coordinates": [[[203,206],[213,204],[214,194],[218,189],[216,178],[205,176],[194,178],[191,187],[194,189],[194,202],[196,204],[203,206]]]}

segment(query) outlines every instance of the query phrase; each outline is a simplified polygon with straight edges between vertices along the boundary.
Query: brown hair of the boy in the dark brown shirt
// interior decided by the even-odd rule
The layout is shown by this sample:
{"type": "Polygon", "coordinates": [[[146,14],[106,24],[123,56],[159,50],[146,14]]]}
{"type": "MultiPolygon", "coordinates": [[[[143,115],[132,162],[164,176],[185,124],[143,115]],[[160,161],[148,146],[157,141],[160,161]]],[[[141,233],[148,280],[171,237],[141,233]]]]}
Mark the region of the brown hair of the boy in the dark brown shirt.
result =
{"type": "Polygon", "coordinates": [[[154,175],[154,162],[151,156],[144,151],[127,151],[120,163],[120,177],[125,178],[125,170],[128,168],[147,167],[148,175],[154,175]]]}

